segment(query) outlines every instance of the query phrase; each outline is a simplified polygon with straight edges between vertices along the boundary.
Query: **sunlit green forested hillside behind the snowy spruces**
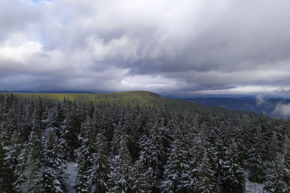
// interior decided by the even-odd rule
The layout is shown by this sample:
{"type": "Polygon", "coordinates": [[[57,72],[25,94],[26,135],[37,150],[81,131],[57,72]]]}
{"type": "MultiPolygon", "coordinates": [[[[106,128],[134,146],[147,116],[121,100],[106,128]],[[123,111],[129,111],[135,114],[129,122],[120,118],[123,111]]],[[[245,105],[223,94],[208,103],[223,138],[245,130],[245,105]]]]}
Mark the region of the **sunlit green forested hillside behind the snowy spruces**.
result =
{"type": "Polygon", "coordinates": [[[104,103],[115,103],[117,105],[125,105],[127,102],[130,105],[142,106],[154,106],[157,109],[161,109],[165,103],[171,111],[178,111],[179,109],[194,110],[195,108],[208,110],[209,112],[217,110],[218,113],[227,112],[229,114],[252,114],[253,117],[258,117],[258,113],[243,110],[230,110],[218,106],[206,106],[198,103],[192,103],[185,100],[176,100],[172,98],[164,98],[161,95],[149,91],[128,91],[120,93],[15,93],[19,98],[36,98],[40,96],[45,100],[58,100],[62,101],[65,97],[69,100],[76,102],[86,102],[91,100],[94,104],[101,102],[104,103]]]}

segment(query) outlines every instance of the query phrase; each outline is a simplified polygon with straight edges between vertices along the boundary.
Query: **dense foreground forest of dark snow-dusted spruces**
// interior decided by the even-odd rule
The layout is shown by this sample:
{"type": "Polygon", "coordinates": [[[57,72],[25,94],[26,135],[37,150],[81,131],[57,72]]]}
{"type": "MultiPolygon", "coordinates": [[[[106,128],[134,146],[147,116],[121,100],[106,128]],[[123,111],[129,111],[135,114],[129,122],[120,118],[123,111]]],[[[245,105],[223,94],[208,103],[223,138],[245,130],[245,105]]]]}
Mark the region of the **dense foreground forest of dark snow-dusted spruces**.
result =
{"type": "Polygon", "coordinates": [[[290,120],[0,94],[0,192],[290,192],[290,120]]]}

